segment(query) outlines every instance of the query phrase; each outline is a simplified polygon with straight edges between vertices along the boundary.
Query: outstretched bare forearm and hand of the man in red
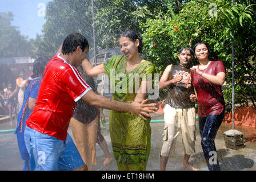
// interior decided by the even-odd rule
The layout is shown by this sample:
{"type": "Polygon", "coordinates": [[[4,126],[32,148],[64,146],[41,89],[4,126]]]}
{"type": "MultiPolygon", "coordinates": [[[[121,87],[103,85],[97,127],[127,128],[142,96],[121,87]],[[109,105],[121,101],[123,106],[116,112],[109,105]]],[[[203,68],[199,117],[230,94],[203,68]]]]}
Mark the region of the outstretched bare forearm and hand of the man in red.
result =
{"type": "MultiPolygon", "coordinates": [[[[157,108],[154,107],[156,104],[145,104],[147,100],[143,101],[142,103],[133,102],[128,104],[125,102],[118,102],[111,100],[110,98],[99,96],[94,93],[93,90],[89,90],[82,97],[82,100],[90,105],[102,107],[104,109],[130,112],[132,114],[145,115],[147,117],[151,117],[151,115],[148,113],[154,113],[154,110],[157,110],[157,108]]],[[[146,118],[143,116],[141,116],[141,118],[146,120],[146,118]]]]}

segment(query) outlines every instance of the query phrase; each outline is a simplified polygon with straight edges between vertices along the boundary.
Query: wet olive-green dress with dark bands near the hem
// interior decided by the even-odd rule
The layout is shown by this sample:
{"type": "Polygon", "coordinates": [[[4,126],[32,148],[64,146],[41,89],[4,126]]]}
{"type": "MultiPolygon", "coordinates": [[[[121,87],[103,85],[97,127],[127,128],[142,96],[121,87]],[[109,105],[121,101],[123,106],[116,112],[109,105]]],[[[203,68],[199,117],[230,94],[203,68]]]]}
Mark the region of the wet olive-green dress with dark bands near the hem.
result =
{"type": "MultiPolygon", "coordinates": [[[[126,73],[126,63],[125,56],[116,55],[103,65],[110,78],[113,100],[131,103],[141,81],[148,80],[149,73],[154,76],[155,67],[144,61],[126,73]]],[[[135,114],[110,110],[109,131],[118,170],[146,170],[150,153],[150,118],[144,121],[135,114]]]]}

